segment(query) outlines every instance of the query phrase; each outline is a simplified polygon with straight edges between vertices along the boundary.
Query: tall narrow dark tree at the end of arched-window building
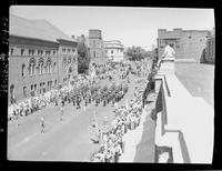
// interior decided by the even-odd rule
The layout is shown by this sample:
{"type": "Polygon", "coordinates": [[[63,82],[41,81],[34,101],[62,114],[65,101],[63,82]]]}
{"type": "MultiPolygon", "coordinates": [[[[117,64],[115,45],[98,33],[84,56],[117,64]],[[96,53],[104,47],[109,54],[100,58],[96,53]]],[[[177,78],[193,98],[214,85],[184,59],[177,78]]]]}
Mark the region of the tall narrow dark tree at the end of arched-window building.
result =
{"type": "Polygon", "coordinates": [[[89,70],[90,64],[90,57],[88,52],[88,48],[84,42],[84,37],[81,36],[81,40],[77,46],[77,52],[78,52],[78,73],[84,73],[87,70],[89,70]]]}

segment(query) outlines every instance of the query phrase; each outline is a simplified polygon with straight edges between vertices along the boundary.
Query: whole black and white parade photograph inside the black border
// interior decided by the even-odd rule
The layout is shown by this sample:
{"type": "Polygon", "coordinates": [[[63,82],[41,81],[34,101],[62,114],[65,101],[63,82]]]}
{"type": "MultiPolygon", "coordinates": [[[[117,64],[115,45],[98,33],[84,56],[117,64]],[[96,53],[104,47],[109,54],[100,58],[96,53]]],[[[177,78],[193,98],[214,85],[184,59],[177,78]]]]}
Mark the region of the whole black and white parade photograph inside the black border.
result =
{"type": "Polygon", "coordinates": [[[7,160],[212,164],[214,9],[10,6],[7,160]]]}

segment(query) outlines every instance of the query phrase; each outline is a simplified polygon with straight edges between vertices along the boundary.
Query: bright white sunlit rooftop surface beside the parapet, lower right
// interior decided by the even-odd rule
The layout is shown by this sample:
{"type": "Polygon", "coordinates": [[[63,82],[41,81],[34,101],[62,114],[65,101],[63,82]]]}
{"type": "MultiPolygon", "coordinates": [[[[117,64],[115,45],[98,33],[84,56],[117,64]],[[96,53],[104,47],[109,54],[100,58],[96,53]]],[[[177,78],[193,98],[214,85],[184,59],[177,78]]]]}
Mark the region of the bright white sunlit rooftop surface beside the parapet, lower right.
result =
{"type": "MultiPolygon", "coordinates": [[[[179,140],[180,145],[178,148],[181,149],[181,152],[183,154],[188,153],[188,160],[182,162],[211,163],[214,134],[213,109],[203,100],[203,98],[192,97],[176,78],[173,69],[171,73],[160,73],[165,74],[171,93],[171,97],[169,97],[165,88],[163,88],[168,115],[168,123],[164,128],[167,131],[181,131],[181,137],[178,139],[176,135],[174,140],[179,140]]],[[[165,144],[170,142],[170,137],[164,139],[165,144]]],[[[181,161],[175,154],[176,153],[174,152],[175,161],[181,161]]]]}

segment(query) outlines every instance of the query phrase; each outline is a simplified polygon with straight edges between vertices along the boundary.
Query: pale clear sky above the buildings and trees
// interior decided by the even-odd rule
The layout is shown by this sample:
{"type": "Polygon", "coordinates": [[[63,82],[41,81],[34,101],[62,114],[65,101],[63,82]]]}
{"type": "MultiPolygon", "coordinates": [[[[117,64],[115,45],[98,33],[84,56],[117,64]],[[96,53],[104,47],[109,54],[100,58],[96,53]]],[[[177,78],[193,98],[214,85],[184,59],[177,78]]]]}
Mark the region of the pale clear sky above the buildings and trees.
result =
{"type": "Polygon", "coordinates": [[[46,19],[69,37],[88,36],[89,29],[102,30],[103,40],[120,40],[124,47],[151,50],[158,29],[211,30],[213,9],[11,6],[10,13],[26,19],[46,19]]]}

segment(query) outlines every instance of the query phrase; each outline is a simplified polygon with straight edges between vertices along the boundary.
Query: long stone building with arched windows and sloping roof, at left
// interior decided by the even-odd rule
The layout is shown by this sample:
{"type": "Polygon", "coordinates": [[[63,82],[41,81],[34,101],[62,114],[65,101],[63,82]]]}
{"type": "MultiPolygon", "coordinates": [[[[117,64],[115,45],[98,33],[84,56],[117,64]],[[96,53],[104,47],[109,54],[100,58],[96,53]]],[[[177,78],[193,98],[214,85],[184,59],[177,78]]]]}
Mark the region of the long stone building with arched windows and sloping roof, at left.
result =
{"type": "Polygon", "coordinates": [[[9,19],[9,103],[65,84],[77,72],[77,42],[46,20],[9,19]]]}

